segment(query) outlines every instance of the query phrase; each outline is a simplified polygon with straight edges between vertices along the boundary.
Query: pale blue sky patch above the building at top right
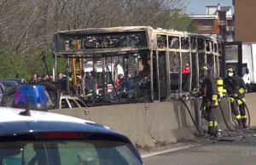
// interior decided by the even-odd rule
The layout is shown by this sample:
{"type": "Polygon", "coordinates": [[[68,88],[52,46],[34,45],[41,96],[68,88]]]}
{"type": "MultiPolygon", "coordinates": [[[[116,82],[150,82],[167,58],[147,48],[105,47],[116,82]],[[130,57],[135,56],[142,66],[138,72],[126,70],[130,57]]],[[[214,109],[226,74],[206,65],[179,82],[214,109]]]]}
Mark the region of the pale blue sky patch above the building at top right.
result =
{"type": "MultiPolygon", "coordinates": [[[[187,14],[206,14],[206,6],[232,6],[232,0],[188,0],[187,14]]],[[[256,0],[255,0],[256,1],[256,0]]]]}

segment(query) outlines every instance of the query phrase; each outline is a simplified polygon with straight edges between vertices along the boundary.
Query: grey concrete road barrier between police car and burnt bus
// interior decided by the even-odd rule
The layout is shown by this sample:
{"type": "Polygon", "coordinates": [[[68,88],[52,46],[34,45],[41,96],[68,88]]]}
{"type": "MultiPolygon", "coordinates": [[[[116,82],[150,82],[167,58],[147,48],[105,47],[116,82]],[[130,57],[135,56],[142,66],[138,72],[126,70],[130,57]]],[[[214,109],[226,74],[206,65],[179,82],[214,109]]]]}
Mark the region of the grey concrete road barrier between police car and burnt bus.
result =
{"type": "MultiPolygon", "coordinates": [[[[187,101],[196,124],[201,125],[201,100],[187,101]]],[[[230,109],[222,100],[224,115],[231,128],[230,109]]],[[[219,110],[218,126],[226,128],[219,110]]],[[[189,111],[180,101],[132,105],[108,105],[90,108],[52,110],[73,117],[100,122],[127,135],[134,143],[154,146],[157,142],[177,142],[178,139],[194,139],[196,128],[189,111]]],[[[204,124],[207,127],[207,122],[204,124]]]]}

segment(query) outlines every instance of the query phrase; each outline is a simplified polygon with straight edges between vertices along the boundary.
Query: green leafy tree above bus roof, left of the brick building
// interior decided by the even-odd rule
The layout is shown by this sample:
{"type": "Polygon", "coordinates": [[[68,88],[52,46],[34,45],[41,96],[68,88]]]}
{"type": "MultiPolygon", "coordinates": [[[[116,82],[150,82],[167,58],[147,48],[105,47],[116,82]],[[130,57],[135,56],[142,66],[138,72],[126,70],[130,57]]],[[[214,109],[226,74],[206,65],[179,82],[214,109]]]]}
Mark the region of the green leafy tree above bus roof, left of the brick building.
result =
{"type": "Polygon", "coordinates": [[[194,21],[186,14],[168,12],[166,14],[166,29],[174,29],[177,31],[197,31],[194,21]]]}

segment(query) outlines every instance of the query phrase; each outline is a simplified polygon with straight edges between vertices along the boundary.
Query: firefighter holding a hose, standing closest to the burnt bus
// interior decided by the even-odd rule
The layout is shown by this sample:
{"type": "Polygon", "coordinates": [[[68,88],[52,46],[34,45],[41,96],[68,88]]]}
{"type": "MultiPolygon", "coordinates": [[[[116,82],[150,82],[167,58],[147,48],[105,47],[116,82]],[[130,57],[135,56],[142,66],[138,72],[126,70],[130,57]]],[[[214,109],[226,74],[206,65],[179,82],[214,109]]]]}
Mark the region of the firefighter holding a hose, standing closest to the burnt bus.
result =
{"type": "Polygon", "coordinates": [[[202,96],[202,105],[207,112],[208,134],[218,136],[217,108],[218,108],[218,86],[216,79],[212,76],[211,66],[208,64],[201,66],[201,88],[193,95],[202,96]]]}

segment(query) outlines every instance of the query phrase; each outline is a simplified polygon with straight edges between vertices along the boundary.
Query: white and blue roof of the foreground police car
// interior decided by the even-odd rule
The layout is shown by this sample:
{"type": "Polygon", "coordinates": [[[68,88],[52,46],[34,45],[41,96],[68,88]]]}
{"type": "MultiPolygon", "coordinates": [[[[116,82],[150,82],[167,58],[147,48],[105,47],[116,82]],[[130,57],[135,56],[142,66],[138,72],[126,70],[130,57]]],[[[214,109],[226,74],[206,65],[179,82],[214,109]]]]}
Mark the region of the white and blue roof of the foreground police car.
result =
{"type": "MultiPolygon", "coordinates": [[[[66,115],[61,115],[57,113],[52,113],[48,111],[30,111],[31,116],[19,115],[23,109],[11,108],[11,107],[0,107],[0,125],[1,131],[0,136],[4,134],[16,134],[27,132],[24,128],[19,128],[20,124],[29,123],[28,125],[33,125],[33,128],[37,128],[38,132],[42,131],[92,131],[95,133],[106,133],[115,134],[121,138],[125,138],[124,134],[108,128],[100,123],[80,119],[77,117],[69,117],[66,115]],[[55,127],[53,127],[55,125],[55,127]],[[62,127],[66,125],[67,127],[62,127]],[[6,128],[3,128],[5,126],[6,128]],[[15,126],[15,127],[14,127],[15,126]],[[21,130],[22,129],[22,130],[21,130]]],[[[29,128],[29,127],[26,127],[29,128]]],[[[127,137],[126,137],[127,138],[127,137]]],[[[125,139],[126,139],[125,138],[125,139]]]]}

